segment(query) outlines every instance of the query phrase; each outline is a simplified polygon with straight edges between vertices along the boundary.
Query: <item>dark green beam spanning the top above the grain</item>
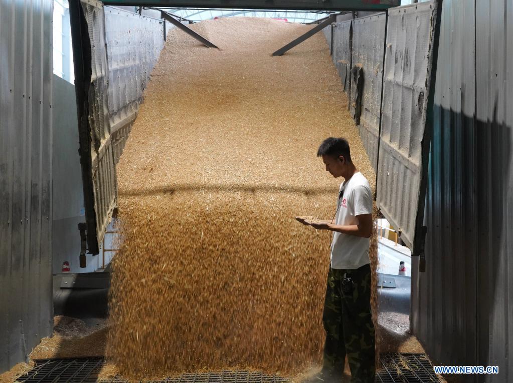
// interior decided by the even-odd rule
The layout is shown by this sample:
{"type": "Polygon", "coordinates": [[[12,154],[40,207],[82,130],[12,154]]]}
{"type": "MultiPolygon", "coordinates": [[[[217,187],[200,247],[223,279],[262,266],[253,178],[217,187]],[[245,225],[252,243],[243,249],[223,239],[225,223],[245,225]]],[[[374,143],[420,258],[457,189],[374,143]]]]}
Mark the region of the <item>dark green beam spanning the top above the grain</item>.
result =
{"type": "Polygon", "coordinates": [[[384,11],[401,5],[401,0],[107,0],[103,4],[161,8],[384,11]]]}

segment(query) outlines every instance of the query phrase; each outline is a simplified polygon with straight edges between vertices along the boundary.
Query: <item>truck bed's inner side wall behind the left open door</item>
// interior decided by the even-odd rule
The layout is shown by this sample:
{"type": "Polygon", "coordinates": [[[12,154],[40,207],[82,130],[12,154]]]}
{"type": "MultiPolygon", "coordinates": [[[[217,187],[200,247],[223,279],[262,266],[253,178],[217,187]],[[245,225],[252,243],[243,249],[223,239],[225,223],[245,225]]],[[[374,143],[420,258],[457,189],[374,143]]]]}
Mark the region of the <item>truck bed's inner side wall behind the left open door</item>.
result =
{"type": "Polygon", "coordinates": [[[162,21],[117,8],[104,7],[104,12],[110,132],[117,162],[164,46],[164,27],[162,21]]]}

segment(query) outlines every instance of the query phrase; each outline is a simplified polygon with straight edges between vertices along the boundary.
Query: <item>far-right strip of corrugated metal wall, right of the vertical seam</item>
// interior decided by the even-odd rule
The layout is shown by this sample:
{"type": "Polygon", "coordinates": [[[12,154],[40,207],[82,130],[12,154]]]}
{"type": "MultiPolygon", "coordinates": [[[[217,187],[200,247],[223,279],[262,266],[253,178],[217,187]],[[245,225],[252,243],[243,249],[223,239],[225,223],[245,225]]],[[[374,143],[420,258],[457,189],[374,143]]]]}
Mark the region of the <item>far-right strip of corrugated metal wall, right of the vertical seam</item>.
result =
{"type": "Polygon", "coordinates": [[[513,0],[476,2],[478,364],[499,366],[490,382],[513,381],[511,26],[513,0]]]}

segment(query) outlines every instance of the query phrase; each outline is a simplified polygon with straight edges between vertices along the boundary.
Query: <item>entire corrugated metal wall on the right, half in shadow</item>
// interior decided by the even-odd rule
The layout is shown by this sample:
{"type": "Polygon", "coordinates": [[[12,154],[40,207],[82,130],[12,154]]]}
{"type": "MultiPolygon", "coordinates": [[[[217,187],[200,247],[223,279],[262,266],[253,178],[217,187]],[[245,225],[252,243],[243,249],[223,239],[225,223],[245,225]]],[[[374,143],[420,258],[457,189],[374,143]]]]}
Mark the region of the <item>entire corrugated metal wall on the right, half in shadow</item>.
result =
{"type": "Polygon", "coordinates": [[[444,0],[427,269],[413,275],[411,322],[441,363],[499,366],[465,381],[513,379],[511,25],[511,0],[444,0]]]}

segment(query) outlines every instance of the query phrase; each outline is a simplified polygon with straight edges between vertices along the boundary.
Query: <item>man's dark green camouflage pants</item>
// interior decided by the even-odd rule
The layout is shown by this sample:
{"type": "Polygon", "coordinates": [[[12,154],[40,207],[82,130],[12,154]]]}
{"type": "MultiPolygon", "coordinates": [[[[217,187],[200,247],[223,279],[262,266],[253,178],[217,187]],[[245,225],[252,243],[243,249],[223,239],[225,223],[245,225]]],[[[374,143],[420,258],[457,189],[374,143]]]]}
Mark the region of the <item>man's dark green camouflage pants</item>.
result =
{"type": "Polygon", "coordinates": [[[323,313],[326,344],[323,370],[342,376],[345,359],[352,383],[373,383],[374,325],[370,310],[370,265],[328,272],[323,313]]]}

